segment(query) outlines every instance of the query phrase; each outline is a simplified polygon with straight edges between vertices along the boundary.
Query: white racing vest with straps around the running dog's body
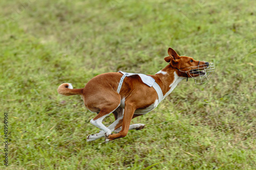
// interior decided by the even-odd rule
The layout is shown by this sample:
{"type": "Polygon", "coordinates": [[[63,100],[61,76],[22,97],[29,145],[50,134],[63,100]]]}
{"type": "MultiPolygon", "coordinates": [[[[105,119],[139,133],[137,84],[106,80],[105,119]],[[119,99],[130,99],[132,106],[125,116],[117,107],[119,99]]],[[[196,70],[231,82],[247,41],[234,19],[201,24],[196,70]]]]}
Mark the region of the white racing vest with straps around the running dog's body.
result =
{"type": "Polygon", "coordinates": [[[153,87],[158,95],[158,104],[164,99],[163,97],[163,92],[162,89],[160,88],[160,86],[156,83],[155,79],[153,79],[150,76],[147,75],[143,75],[143,74],[134,74],[134,73],[129,73],[129,72],[123,72],[123,71],[118,71],[121,72],[121,74],[123,74],[123,76],[120,79],[119,85],[117,87],[117,92],[119,93],[123,84],[123,80],[125,77],[129,77],[129,76],[133,76],[133,75],[138,75],[142,82],[145,83],[146,85],[153,87]]]}

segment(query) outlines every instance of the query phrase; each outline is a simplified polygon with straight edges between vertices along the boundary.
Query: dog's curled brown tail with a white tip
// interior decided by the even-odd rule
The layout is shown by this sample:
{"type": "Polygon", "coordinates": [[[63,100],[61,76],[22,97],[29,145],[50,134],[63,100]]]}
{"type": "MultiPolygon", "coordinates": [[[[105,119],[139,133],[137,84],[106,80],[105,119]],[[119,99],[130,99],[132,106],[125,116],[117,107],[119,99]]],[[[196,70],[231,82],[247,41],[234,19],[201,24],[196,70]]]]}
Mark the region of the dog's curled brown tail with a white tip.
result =
{"type": "Polygon", "coordinates": [[[73,89],[71,83],[63,83],[59,85],[57,91],[59,94],[62,95],[75,95],[75,94],[82,94],[83,88],[73,89]]]}

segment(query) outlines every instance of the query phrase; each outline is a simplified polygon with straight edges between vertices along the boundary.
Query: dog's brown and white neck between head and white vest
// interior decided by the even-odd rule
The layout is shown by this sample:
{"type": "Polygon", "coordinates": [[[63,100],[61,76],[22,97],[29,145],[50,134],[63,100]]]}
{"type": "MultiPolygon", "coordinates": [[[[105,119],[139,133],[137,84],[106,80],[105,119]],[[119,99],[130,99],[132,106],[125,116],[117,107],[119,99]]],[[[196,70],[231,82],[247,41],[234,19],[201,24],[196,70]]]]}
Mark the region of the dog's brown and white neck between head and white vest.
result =
{"type": "Polygon", "coordinates": [[[180,71],[176,68],[174,68],[172,65],[167,65],[160,71],[158,71],[154,79],[158,83],[158,85],[161,87],[164,98],[174,90],[174,88],[183,80],[186,79],[185,77],[182,77],[184,75],[181,75],[180,71]]]}

